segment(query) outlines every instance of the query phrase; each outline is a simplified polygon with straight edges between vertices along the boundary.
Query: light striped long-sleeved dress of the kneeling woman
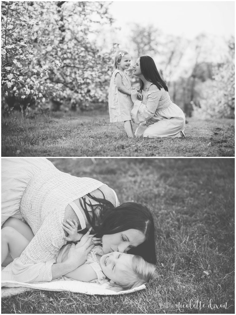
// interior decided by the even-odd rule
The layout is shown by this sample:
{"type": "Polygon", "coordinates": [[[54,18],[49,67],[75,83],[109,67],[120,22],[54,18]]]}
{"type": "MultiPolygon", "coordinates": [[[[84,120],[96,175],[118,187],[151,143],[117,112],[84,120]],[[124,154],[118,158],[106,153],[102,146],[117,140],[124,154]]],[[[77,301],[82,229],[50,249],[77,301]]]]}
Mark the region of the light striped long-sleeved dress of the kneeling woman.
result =
{"type": "Polygon", "coordinates": [[[137,137],[180,137],[185,129],[185,116],[179,106],[172,103],[163,88],[142,91],[142,101],[136,100],[131,111],[134,123],[140,123],[135,131],[137,137]]]}

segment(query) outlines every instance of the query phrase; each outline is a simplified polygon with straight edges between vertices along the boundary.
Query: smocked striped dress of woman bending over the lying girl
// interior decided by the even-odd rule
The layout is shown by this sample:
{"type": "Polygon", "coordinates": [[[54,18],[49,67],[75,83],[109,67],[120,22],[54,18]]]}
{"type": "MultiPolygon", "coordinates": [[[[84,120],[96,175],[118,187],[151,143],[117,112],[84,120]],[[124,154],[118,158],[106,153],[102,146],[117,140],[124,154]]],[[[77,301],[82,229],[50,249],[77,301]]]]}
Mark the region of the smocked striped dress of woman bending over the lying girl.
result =
{"type": "Polygon", "coordinates": [[[35,235],[12,263],[16,281],[52,280],[51,267],[66,243],[62,228],[66,206],[71,205],[81,229],[85,228],[73,201],[102,185],[89,177],[63,173],[44,158],[2,158],[2,224],[10,216],[26,220],[35,235]]]}

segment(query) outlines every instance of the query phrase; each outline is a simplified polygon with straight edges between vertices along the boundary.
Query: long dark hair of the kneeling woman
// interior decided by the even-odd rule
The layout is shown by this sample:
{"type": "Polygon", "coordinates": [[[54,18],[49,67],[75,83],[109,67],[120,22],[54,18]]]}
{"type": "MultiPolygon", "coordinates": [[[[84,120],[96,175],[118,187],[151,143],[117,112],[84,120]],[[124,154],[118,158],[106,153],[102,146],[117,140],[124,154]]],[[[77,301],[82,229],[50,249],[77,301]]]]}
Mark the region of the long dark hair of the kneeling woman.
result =
{"type": "MultiPolygon", "coordinates": [[[[141,56],[139,57],[139,60],[140,60],[140,70],[142,72],[142,75],[145,77],[145,79],[155,84],[159,90],[163,88],[165,91],[168,92],[167,85],[162,80],[153,58],[149,56],[141,56]]],[[[141,79],[139,80],[140,80],[140,93],[141,93],[144,83],[141,79]]]]}

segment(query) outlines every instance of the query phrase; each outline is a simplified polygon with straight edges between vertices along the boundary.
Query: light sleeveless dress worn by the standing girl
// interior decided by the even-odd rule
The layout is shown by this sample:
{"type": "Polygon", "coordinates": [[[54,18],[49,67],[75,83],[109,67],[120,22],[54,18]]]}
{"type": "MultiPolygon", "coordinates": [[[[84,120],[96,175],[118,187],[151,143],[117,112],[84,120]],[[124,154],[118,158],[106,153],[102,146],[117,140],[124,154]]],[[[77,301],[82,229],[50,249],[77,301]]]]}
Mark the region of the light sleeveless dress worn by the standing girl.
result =
{"type": "Polygon", "coordinates": [[[110,114],[110,122],[131,120],[131,109],[133,108],[133,102],[128,94],[118,91],[116,86],[115,77],[116,74],[121,75],[122,84],[127,90],[132,90],[130,77],[127,72],[115,70],[112,73],[112,78],[109,87],[108,106],[110,114]]]}

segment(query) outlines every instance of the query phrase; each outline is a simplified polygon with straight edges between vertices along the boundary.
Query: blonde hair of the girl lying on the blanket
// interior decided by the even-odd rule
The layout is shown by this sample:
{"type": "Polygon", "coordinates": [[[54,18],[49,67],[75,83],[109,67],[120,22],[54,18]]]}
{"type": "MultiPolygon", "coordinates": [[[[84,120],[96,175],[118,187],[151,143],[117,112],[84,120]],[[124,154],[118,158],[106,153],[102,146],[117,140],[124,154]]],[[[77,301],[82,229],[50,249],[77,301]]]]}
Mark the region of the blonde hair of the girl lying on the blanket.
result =
{"type": "Polygon", "coordinates": [[[158,278],[156,267],[153,264],[145,261],[141,256],[133,255],[132,267],[124,272],[125,281],[120,283],[110,283],[113,290],[129,290],[147,284],[150,281],[158,278]]]}

